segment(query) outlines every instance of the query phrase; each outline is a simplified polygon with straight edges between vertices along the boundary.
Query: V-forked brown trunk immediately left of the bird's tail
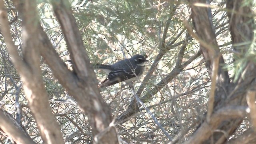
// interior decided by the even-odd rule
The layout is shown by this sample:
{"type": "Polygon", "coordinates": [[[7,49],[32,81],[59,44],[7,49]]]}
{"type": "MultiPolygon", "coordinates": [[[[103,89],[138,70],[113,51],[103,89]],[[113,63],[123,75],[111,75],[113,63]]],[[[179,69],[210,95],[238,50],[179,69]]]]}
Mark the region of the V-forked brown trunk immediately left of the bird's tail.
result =
{"type": "Polygon", "coordinates": [[[113,131],[114,133],[100,134],[109,128],[112,122],[111,112],[98,90],[96,77],[84,50],[80,31],[72,15],[69,2],[67,0],[52,1],[52,5],[68,45],[74,72],[68,70],[64,62],[58,57],[42,28],[40,28],[42,43],[40,53],[60,84],[75,98],[81,110],[88,114],[92,134],[94,136],[99,134],[98,136],[102,138],[100,141],[104,140],[106,144],[114,144],[118,142],[115,131],[113,131]]]}

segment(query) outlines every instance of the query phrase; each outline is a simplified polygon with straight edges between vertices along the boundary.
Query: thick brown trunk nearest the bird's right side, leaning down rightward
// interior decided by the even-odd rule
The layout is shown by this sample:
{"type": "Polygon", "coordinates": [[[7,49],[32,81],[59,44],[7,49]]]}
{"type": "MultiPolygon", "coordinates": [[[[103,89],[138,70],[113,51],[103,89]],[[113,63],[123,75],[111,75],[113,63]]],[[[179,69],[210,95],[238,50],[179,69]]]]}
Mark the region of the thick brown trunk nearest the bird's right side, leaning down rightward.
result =
{"type": "Polygon", "coordinates": [[[215,32],[212,30],[212,25],[210,18],[208,17],[207,8],[198,6],[198,3],[205,4],[205,0],[189,0],[192,11],[192,19],[194,22],[194,27],[197,33],[197,40],[200,42],[200,49],[202,50],[204,59],[206,60],[206,67],[208,69],[209,75],[212,78],[214,58],[219,57],[218,74],[216,77],[216,92],[214,96],[214,105],[220,100],[225,99],[225,90],[230,82],[228,72],[222,67],[225,65],[224,59],[220,54],[218,49],[218,44],[216,41],[215,32]]]}

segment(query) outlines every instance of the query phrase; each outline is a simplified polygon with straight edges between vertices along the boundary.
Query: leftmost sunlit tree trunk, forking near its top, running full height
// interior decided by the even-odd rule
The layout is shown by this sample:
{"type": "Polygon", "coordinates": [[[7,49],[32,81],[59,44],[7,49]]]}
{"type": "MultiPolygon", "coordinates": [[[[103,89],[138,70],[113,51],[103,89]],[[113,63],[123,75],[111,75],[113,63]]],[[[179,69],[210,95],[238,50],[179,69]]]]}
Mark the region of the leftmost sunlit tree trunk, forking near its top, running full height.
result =
{"type": "Polygon", "coordinates": [[[22,42],[23,42],[23,57],[22,60],[18,55],[16,47],[11,42],[11,35],[8,26],[6,12],[4,11],[4,2],[1,0],[1,28],[4,37],[6,37],[7,49],[13,58],[13,64],[18,70],[23,82],[24,92],[28,99],[29,106],[38,124],[42,139],[47,143],[63,143],[60,127],[55,120],[54,115],[48,103],[48,96],[44,88],[42,73],[40,69],[40,56],[38,50],[38,32],[39,24],[38,15],[36,12],[35,1],[14,0],[16,8],[22,15],[22,42]]]}

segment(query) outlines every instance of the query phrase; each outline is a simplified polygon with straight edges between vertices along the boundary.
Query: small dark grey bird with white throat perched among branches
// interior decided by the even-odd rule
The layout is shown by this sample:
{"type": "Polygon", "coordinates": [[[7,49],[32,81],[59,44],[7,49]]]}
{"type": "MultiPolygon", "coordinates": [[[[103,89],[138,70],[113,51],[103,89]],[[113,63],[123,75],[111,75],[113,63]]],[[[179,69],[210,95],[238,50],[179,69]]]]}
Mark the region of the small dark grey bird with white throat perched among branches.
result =
{"type": "Polygon", "coordinates": [[[114,64],[94,65],[94,69],[103,70],[108,74],[108,78],[106,78],[99,87],[103,88],[118,82],[130,83],[137,80],[142,76],[147,61],[144,56],[136,54],[132,56],[132,58],[120,60],[114,64]]]}

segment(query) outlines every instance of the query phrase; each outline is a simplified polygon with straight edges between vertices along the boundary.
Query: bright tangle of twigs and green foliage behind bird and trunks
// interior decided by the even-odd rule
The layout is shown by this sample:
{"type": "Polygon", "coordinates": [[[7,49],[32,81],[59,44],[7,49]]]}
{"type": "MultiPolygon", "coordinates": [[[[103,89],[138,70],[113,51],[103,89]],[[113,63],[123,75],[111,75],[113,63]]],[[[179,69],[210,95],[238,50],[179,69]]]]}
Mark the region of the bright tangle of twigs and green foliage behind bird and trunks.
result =
{"type": "MultiPolygon", "coordinates": [[[[206,112],[210,76],[207,72],[202,55],[195,56],[199,51],[198,41],[192,39],[184,28],[184,21],[193,27],[190,8],[184,0],[69,0],[76,18],[76,23],[84,40],[84,47],[92,64],[113,64],[118,60],[130,58],[134,54],[148,56],[146,72],[152,66],[157,56],[163,53],[156,70],[146,82],[144,76],[134,83],[135,91],[142,84],[145,86],[141,96],[152,94],[152,89],[159,82],[165,82],[166,76],[174,70],[178,63],[180,52],[182,64],[186,63],[181,72],[173,74],[170,82],[166,81],[162,89],[150,95],[144,103],[156,117],[161,127],[177,142],[186,141],[202,122],[206,112]],[[192,59],[192,62],[188,60],[192,59]]],[[[10,0],[5,0],[8,8],[12,36],[19,50],[22,46],[20,18],[10,0]]],[[[224,56],[230,77],[235,75],[236,66],[231,48],[231,37],[228,29],[228,18],[225,1],[211,1],[212,22],[216,33],[219,49],[224,56]]],[[[48,34],[60,58],[67,62],[69,53],[66,49],[64,36],[58,21],[54,17],[51,4],[47,0],[38,0],[38,11],[41,25],[48,34]]],[[[28,134],[38,143],[42,143],[36,122],[31,114],[28,102],[24,96],[22,82],[16,72],[6,44],[0,34],[0,106],[21,122],[28,134]],[[21,114],[21,115],[18,115],[21,114]]],[[[21,50],[20,50],[21,51],[21,50]]],[[[92,142],[88,118],[83,114],[76,102],[54,78],[44,60],[41,60],[43,79],[49,96],[52,112],[60,123],[63,137],[67,144],[82,144],[92,142]]],[[[100,83],[106,75],[95,71],[100,83]]],[[[104,89],[102,97],[112,109],[112,116],[117,118],[123,114],[134,99],[127,86],[115,84],[104,89]]],[[[152,117],[140,109],[126,122],[117,126],[117,132],[128,144],[162,144],[168,138],[152,117]]],[[[239,135],[249,127],[245,119],[232,136],[239,135]]],[[[1,136],[1,135],[0,135],[1,136]]],[[[2,143],[11,141],[2,136],[2,143]]]]}

